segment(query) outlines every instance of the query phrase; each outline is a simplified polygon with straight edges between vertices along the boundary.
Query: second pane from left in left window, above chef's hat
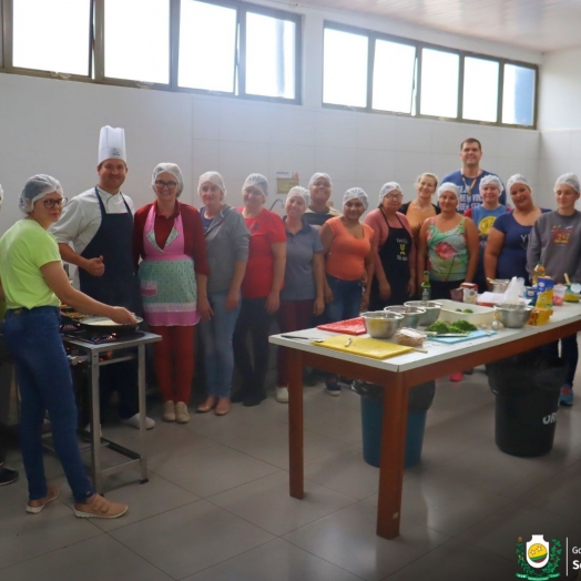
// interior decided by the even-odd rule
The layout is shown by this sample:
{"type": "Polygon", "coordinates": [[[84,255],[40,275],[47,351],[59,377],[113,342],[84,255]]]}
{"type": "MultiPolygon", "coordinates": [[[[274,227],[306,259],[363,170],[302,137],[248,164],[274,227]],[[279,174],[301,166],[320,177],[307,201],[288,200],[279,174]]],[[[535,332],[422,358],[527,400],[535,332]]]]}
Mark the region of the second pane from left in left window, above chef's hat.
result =
{"type": "Polygon", "coordinates": [[[105,77],[170,82],[170,0],[105,0],[105,77]]]}

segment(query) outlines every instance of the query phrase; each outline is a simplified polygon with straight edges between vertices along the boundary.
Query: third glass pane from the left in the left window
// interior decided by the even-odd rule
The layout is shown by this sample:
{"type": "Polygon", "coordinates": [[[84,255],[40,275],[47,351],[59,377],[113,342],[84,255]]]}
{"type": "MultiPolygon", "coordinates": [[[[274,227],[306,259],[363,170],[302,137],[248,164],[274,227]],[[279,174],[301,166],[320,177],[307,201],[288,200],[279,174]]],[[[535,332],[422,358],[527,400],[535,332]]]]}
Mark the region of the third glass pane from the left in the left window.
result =
{"type": "Polygon", "coordinates": [[[236,47],[235,8],[182,0],[180,86],[234,93],[236,47]]]}

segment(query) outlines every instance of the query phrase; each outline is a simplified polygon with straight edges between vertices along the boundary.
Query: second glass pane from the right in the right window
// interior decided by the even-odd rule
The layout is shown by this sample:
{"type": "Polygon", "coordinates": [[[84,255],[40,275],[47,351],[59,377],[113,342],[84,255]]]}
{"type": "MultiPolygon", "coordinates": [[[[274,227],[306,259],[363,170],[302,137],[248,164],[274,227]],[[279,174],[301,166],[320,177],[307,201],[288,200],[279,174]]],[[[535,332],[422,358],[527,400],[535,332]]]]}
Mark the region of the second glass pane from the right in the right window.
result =
{"type": "Polygon", "coordinates": [[[500,63],[467,57],[463,61],[463,119],[496,122],[500,63]]]}

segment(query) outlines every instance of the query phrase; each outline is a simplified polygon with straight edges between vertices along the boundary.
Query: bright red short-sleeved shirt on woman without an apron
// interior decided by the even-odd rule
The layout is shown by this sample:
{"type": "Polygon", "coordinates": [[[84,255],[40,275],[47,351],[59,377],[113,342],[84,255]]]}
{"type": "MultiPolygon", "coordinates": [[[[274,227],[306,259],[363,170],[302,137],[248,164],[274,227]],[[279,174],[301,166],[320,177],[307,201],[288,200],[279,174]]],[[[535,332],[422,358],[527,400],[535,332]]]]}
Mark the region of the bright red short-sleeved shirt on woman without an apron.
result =
{"type": "MultiPolygon", "coordinates": [[[[242,210],[238,207],[238,212],[242,210]]],[[[274,255],[271,245],[277,242],[286,244],[286,231],[281,216],[266,208],[257,216],[244,218],[244,222],[251,231],[251,245],[242,297],[262,298],[273,288],[274,255]]]]}

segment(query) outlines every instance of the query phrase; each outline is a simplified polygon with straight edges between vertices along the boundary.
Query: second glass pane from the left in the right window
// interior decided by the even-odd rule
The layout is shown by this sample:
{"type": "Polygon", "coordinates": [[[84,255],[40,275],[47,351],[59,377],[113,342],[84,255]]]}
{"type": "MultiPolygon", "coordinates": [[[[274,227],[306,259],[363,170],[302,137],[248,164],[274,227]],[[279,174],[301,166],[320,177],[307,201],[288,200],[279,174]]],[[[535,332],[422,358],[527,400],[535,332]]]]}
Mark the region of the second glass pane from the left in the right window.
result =
{"type": "Polygon", "coordinates": [[[411,113],[416,47],[385,40],[375,43],[374,109],[411,113]]]}

